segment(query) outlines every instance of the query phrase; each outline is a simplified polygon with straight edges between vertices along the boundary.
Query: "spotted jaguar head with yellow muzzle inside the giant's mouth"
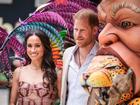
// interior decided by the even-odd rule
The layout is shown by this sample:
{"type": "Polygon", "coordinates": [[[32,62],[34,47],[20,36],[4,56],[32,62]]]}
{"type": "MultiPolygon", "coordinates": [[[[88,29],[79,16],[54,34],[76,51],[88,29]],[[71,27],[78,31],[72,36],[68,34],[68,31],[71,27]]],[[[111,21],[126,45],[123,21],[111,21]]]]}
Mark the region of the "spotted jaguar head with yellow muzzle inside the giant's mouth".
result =
{"type": "Polygon", "coordinates": [[[128,66],[124,60],[110,47],[100,48],[97,55],[92,59],[86,78],[81,79],[81,85],[88,90],[89,87],[110,87],[112,80],[119,74],[126,74],[128,66]]]}

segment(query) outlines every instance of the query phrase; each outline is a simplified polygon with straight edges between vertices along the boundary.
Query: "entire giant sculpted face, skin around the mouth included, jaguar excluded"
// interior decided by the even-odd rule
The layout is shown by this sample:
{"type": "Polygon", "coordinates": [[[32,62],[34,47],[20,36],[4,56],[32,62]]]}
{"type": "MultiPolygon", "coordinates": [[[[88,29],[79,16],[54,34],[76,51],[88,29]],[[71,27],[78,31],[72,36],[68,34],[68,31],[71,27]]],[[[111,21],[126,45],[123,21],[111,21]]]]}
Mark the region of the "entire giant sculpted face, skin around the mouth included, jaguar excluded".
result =
{"type": "Polygon", "coordinates": [[[140,1],[102,0],[98,5],[98,17],[102,31],[99,44],[118,54],[134,72],[135,94],[140,91],[140,1]]]}

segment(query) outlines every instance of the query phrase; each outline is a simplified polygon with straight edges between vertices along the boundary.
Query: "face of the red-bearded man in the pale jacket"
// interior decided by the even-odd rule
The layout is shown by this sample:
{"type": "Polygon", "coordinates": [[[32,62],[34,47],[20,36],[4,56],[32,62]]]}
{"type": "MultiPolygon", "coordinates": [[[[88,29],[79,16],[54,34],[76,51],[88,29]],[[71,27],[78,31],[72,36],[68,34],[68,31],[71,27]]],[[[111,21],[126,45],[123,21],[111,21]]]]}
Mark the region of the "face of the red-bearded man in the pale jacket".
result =
{"type": "Polygon", "coordinates": [[[94,29],[88,24],[87,19],[76,19],[74,21],[74,39],[79,47],[85,47],[94,40],[94,29]]]}

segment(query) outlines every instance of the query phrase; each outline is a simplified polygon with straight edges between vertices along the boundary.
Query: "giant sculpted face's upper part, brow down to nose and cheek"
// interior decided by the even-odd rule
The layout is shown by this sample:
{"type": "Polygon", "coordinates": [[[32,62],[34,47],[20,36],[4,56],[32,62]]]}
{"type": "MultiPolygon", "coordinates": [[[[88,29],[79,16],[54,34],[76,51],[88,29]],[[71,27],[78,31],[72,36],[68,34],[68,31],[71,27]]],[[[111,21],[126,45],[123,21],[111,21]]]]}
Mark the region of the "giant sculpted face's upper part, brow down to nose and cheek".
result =
{"type": "Polygon", "coordinates": [[[120,41],[140,56],[139,0],[102,0],[98,15],[103,26],[99,34],[101,46],[120,41]]]}

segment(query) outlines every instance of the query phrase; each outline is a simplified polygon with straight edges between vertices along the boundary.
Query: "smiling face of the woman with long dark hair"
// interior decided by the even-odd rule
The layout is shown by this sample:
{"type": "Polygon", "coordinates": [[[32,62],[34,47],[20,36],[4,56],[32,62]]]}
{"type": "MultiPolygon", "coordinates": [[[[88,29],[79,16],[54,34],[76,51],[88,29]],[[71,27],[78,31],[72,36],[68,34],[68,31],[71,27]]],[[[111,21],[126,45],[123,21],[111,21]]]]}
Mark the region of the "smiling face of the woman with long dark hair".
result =
{"type": "Polygon", "coordinates": [[[32,61],[43,59],[44,46],[38,36],[32,35],[27,39],[27,54],[32,61]]]}

